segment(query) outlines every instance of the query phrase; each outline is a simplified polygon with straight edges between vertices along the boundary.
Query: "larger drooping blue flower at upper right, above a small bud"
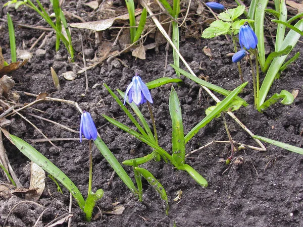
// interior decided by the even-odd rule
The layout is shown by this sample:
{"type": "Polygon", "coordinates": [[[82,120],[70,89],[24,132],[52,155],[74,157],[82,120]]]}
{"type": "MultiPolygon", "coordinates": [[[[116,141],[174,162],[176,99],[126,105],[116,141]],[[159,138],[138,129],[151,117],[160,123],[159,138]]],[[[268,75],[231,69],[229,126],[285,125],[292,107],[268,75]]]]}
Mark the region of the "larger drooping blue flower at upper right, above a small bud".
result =
{"type": "Polygon", "coordinates": [[[255,49],[258,44],[258,38],[247,22],[240,27],[239,42],[241,48],[244,46],[246,49],[255,49]]]}

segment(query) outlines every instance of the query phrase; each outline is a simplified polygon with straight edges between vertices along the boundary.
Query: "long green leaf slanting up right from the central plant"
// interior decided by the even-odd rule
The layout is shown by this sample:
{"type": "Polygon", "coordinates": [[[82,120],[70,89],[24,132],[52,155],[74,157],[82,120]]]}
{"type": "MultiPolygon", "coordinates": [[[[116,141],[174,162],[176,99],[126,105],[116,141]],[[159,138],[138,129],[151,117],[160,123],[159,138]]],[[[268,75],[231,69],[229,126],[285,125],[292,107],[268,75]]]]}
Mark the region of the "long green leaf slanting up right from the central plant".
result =
{"type": "Polygon", "coordinates": [[[247,85],[248,82],[243,83],[236,89],[234,89],[226,98],[224,98],[220,104],[202,121],[200,121],[189,133],[185,136],[185,144],[195,135],[198,131],[212,121],[219,113],[221,113],[230,102],[236,97],[236,95],[247,85]]]}

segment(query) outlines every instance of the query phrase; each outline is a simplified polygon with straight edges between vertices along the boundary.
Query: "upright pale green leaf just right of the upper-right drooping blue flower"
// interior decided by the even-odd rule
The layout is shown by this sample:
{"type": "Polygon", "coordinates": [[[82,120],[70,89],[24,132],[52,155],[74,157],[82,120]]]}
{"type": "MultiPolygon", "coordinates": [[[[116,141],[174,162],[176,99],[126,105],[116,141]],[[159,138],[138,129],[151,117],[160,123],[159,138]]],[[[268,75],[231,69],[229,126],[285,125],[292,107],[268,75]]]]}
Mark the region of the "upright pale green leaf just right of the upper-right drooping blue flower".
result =
{"type": "MultiPolygon", "coordinates": [[[[259,0],[258,4],[255,5],[255,33],[258,38],[258,52],[259,52],[259,62],[262,67],[265,64],[265,47],[264,47],[264,15],[265,9],[268,4],[268,0],[259,0]]],[[[249,9],[250,10],[250,9],[249,9]]],[[[251,19],[251,18],[250,18],[251,19]]],[[[262,68],[261,67],[261,68],[262,68]]]]}

